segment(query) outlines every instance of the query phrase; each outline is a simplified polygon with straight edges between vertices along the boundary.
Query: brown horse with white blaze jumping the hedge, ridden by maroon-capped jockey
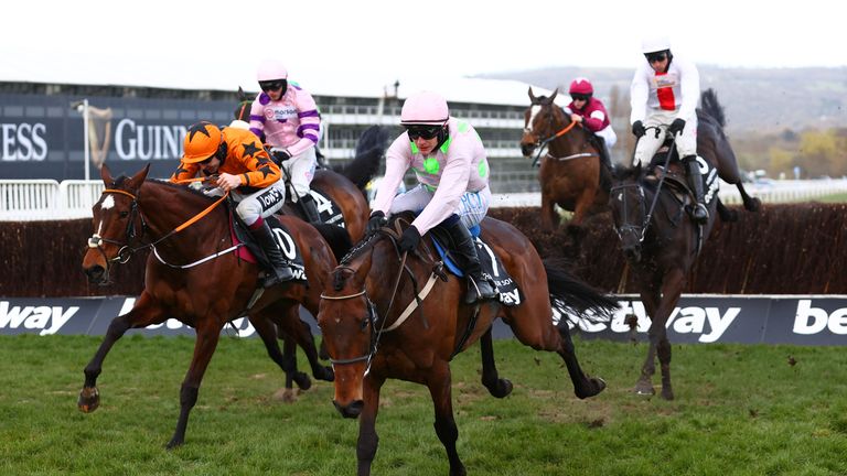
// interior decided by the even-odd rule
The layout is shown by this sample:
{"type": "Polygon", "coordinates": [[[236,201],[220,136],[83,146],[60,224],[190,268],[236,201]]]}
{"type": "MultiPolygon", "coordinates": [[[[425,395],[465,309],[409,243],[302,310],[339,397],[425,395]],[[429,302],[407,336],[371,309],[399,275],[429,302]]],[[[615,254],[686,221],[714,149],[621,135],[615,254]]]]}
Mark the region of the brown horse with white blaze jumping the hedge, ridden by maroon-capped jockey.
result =
{"type": "Polygon", "coordinates": [[[542,228],[549,231],[558,226],[559,215],[554,207],[558,205],[573,212],[568,231],[576,237],[589,214],[605,209],[611,171],[600,160],[601,148],[593,134],[556,106],[558,94],[556,89],[550,97],[536,97],[529,88],[521,151],[529,158],[538,150],[542,228]],[[542,158],[545,147],[548,152],[542,158]]]}

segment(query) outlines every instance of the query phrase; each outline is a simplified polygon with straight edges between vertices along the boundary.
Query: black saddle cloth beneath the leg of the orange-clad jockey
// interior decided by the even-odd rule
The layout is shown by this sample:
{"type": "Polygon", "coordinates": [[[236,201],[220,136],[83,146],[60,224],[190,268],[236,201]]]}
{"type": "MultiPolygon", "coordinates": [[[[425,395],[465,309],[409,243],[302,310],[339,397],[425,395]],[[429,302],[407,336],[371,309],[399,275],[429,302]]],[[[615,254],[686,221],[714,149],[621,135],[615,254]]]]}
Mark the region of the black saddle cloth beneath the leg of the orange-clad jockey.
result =
{"type": "MultiPolygon", "coordinates": [[[[270,268],[268,259],[265,257],[265,252],[261,250],[258,244],[253,239],[253,235],[247,230],[247,227],[242,223],[233,209],[229,208],[230,217],[235,219],[229,220],[229,231],[233,239],[233,246],[244,244],[236,251],[238,258],[259,264],[262,269],[270,268]]],[[[305,267],[303,264],[303,256],[300,252],[300,248],[297,246],[291,231],[288,230],[276,217],[269,216],[265,218],[270,229],[274,230],[274,238],[277,240],[279,249],[282,251],[282,256],[291,263],[291,273],[294,275],[294,280],[305,282],[305,267]]]]}

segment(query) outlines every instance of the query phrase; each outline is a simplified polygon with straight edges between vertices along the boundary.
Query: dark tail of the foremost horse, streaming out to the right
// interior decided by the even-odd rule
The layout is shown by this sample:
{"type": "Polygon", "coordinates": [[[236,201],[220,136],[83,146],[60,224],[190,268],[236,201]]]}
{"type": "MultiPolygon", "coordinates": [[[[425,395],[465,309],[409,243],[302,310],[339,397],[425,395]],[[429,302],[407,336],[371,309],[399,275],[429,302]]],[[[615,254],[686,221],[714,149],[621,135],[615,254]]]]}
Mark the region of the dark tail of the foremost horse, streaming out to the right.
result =
{"type": "Polygon", "coordinates": [[[618,309],[618,301],[571,275],[559,263],[545,260],[544,270],[547,272],[550,301],[559,311],[571,316],[580,316],[590,311],[596,318],[610,318],[618,309]]]}

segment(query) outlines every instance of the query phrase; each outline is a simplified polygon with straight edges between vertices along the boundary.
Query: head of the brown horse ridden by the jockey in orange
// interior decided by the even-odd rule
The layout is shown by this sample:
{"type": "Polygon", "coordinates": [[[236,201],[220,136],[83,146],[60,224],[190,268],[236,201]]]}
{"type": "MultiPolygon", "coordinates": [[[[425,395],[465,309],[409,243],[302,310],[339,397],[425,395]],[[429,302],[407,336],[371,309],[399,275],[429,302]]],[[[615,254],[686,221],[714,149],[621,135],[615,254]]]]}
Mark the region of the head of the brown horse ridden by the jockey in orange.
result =
{"type": "Polygon", "coordinates": [[[109,167],[103,164],[100,177],[106,190],[92,207],[94,234],[88,238],[88,251],[83,257],[83,272],[89,282],[108,283],[111,263],[126,262],[130,244],[143,232],[137,197],[149,171],[150,164],[147,164],[132,177],[112,178],[109,167]]]}

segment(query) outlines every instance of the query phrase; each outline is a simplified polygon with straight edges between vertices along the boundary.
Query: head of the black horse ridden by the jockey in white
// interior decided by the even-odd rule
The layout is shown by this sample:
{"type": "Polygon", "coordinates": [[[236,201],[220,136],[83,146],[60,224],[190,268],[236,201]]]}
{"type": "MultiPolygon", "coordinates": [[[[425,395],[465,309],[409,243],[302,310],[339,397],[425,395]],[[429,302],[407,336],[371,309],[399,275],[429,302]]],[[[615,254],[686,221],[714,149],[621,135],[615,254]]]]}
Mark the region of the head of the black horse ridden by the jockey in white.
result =
{"type": "Polygon", "coordinates": [[[641,244],[647,225],[647,204],[641,178],[641,164],[632,169],[618,169],[609,193],[614,230],[621,239],[623,253],[633,262],[641,260],[641,244]]]}

